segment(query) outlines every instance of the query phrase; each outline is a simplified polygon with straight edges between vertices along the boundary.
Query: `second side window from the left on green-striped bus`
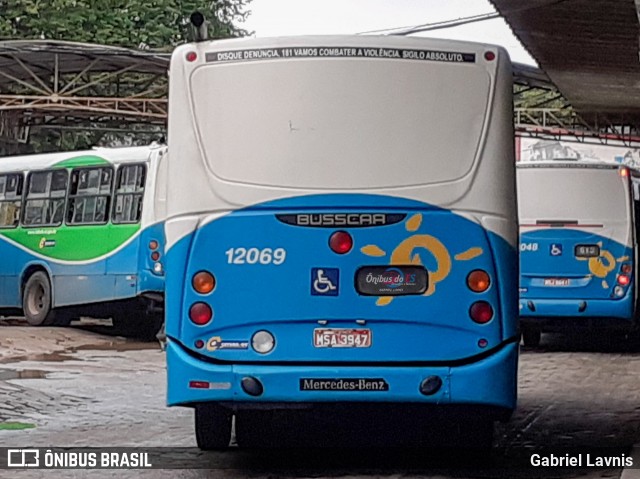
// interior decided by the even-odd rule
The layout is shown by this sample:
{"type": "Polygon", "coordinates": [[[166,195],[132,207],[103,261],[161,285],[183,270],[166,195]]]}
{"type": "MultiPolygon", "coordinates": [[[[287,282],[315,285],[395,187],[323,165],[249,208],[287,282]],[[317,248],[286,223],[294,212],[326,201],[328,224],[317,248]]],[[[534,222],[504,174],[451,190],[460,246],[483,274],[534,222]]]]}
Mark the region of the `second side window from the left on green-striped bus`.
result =
{"type": "Polygon", "coordinates": [[[36,171],[27,177],[22,217],[25,226],[59,226],[64,217],[69,173],[66,169],[36,171]]]}

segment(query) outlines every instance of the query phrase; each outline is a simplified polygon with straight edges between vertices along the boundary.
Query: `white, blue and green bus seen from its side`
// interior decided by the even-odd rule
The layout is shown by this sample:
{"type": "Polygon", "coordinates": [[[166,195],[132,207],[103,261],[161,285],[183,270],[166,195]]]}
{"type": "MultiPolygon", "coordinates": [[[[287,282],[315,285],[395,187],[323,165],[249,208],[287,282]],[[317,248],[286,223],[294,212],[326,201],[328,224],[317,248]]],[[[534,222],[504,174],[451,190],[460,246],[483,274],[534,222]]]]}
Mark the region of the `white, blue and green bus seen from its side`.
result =
{"type": "Polygon", "coordinates": [[[165,154],[151,146],[0,158],[0,311],[34,326],[112,317],[124,332],[155,334],[165,154]]]}

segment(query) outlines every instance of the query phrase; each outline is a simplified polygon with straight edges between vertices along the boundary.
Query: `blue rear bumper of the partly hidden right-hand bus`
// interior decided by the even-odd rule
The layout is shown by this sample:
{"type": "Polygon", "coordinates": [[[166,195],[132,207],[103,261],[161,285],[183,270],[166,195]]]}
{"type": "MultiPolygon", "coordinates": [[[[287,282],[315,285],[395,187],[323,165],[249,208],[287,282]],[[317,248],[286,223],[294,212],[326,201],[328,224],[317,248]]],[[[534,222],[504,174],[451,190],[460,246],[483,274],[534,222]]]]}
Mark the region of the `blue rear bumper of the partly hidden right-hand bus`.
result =
{"type": "Polygon", "coordinates": [[[520,298],[520,318],[618,318],[633,320],[633,295],[621,299],[520,298]]]}

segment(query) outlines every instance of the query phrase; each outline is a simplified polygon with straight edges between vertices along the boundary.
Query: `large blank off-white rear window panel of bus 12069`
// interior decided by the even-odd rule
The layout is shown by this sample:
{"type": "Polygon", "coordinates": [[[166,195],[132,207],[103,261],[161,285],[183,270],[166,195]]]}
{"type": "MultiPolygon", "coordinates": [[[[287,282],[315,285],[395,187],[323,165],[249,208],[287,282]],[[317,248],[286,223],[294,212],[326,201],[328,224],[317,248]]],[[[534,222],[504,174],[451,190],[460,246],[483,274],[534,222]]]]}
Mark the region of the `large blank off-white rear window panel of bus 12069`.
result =
{"type": "Polygon", "coordinates": [[[317,58],[197,68],[190,87],[205,161],[222,180],[272,187],[457,180],[477,158],[491,78],[475,64],[430,66],[317,58]]]}

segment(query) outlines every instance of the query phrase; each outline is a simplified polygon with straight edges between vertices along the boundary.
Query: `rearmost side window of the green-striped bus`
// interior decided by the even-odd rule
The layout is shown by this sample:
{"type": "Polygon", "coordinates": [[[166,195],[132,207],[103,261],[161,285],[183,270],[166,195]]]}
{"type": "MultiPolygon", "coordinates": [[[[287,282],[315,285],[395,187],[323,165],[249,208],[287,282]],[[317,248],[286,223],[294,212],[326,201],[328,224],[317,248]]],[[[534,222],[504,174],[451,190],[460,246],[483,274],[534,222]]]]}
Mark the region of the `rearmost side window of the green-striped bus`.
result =
{"type": "Polygon", "coordinates": [[[116,175],[113,223],[137,223],[142,216],[142,197],[147,169],[144,164],[123,165],[116,175]]]}

